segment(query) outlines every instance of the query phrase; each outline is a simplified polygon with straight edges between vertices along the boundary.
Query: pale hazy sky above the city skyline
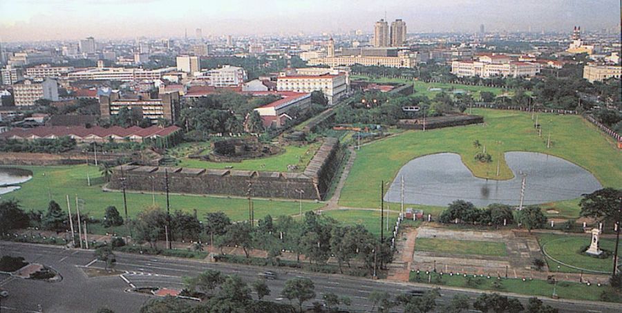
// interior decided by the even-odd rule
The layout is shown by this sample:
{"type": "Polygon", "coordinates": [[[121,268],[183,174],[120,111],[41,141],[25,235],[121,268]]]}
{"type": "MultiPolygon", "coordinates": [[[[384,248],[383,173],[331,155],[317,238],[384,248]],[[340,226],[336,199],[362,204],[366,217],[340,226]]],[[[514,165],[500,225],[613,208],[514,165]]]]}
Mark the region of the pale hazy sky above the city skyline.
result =
{"type": "Polygon", "coordinates": [[[401,18],[408,32],[619,27],[620,0],[0,0],[0,38],[371,32],[401,18]]]}

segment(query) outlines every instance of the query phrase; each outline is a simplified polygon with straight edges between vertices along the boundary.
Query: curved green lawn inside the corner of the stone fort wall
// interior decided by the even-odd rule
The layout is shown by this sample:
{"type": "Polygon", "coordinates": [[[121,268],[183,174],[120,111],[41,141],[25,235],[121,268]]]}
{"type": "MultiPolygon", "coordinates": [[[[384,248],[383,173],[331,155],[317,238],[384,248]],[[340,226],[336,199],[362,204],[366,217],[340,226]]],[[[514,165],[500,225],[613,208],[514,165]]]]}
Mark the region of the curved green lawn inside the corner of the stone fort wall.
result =
{"type": "Polygon", "coordinates": [[[313,158],[319,143],[304,146],[285,146],[285,151],[268,158],[243,160],[242,162],[207,162],[204,160],[180,158],[179,167],[199,169],[243,169],[249,171],[288,171],[288,164],[297,165],[297,171],[304,171],[313,158]]]}

